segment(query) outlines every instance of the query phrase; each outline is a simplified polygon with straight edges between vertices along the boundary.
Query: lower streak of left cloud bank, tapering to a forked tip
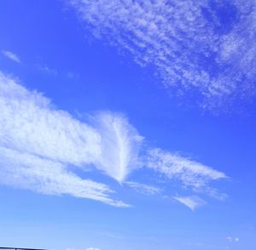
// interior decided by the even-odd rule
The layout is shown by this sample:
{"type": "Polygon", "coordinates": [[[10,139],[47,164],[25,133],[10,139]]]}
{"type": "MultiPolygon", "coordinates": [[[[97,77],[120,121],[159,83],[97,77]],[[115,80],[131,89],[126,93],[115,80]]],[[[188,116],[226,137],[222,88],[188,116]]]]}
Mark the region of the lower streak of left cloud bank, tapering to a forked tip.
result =
{"type": "Polygon", "coordinates": [[[0,183],[37,191],[46,195],[71,195],[93,199],[116,207],[123,202],[109,197],[113,190],[90,179],[81,179],[60,162],[20,151],[0,148],[0,183]]]}

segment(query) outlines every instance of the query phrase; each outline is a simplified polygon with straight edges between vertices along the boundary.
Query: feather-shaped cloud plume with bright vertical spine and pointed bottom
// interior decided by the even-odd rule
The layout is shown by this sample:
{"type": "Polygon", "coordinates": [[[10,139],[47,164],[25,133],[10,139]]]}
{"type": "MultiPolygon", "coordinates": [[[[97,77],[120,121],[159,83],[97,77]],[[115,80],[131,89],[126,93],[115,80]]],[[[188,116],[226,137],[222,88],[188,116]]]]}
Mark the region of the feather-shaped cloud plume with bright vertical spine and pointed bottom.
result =
{"type": "Polygon", "coordinates": [[[101,135],[103,149],[96,162],[113,179],[122,182],[140,166],[138,152],[143,137],[127,122],[125,116],[104,112],[94,117],[94,126],[101,135]],[[111,168],[109,168],[111,166],[111,168]]]}

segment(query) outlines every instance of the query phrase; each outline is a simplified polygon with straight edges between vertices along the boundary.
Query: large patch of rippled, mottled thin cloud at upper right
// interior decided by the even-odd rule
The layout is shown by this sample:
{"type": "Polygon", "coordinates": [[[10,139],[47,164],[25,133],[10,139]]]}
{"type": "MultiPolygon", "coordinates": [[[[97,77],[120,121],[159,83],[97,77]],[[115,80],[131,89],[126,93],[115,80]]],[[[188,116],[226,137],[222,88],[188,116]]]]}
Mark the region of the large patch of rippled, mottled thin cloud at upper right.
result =
{"type": "Polygon", "coordinates": [[[153,66],[166,88],[211,109],[255,94],[253,1],[68,0],[95,37],[153,66]]]}

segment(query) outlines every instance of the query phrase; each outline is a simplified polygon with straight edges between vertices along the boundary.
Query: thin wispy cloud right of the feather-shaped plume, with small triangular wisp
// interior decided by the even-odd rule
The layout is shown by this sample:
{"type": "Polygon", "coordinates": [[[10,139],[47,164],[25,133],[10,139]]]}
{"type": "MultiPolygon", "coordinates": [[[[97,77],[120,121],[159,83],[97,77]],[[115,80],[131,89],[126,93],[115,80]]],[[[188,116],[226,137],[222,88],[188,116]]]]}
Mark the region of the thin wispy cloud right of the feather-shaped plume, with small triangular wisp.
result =
{"type": "MultiPolygon", "coordinates": [[[[146,158],[147,168],[160,173],[169,181],[180,182],[183,187],[193,190],[196,194],[206,194],[220,201],[227,198],[226,194],[219,192],[210,184],[212,181],[227,178],[218,170],[161,149],[149,150],[146,158]]],[[[174,196],[173,198],[192,210],[206,204],[199,196],[174,196]]]]}

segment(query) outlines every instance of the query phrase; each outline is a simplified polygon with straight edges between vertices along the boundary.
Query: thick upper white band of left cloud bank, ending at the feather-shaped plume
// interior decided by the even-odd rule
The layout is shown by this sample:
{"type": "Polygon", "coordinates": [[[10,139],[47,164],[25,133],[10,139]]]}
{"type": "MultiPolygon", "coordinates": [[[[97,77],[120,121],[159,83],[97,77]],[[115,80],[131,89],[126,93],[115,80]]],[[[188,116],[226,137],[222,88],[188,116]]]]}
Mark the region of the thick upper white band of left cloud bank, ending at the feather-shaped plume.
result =
{"type": "Polygon", "coordinates": [[[63,163],[83,165],[101,154],[100,135],[49,99],[0,75],[1,145],[63,163]]]}

